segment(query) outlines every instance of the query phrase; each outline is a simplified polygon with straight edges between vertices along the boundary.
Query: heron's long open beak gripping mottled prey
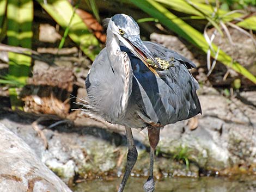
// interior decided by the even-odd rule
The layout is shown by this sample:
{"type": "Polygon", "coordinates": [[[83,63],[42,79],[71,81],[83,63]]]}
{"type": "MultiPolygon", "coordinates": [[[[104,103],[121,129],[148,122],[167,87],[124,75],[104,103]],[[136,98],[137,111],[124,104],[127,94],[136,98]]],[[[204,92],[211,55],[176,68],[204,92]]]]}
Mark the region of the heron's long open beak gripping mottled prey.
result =
{"type": "Polygon", "coordinates": [[[148,69],[153,72],[157,77],[159,77],[159,74],[156,72],[156,70],[149,65],[151,63],[155,63],[160,69],[161,66],[155,59],[154,55],[149,51],[149,49],[143,44],[142,40],[139,38],[132,38],[132,39],[126,39],[129,44],[133,48],[133,53],[142,60],[142,62],[148,67],[148,69]]]}

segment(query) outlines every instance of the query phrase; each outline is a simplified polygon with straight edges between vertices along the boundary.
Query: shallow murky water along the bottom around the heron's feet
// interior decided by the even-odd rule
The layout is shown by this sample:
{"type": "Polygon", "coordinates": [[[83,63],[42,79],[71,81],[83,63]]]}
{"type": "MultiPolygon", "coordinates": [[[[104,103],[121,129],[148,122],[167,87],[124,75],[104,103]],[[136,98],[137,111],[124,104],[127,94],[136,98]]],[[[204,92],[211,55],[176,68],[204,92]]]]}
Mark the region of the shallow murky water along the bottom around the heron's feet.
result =
{"type": "MultiPolygon", "coordinates": [[[[130,177],[124,192],[144,192],[147,178],[130,177]]],[[[77,184],[75,192],[115,192],[121,179],[94,180],[77,184]]],[[[155,192],[256,192],[256,176],[236,178],[166,178],[155,182],[155,192]]]]}

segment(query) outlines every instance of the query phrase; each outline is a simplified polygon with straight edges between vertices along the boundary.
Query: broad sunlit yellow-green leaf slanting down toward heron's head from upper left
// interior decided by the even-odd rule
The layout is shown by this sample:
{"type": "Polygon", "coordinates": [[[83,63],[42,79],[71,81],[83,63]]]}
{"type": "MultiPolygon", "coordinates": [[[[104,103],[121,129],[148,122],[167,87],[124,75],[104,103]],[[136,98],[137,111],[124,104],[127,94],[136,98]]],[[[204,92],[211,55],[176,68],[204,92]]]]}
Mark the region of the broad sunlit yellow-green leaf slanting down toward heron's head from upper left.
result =
{"type": "Polygon", "coordinates": [[[74,13],[71,4],[66,0],[47,1],[47,4],[44,4],[42,0],[38,0],[38,2],[62,28],[66,29],[69,26],[70,38],[80,46],[84,54],[94,60],[100,52],[99,41],[93,33],[89,32],[81,18],[74,13]],[[73,13],[74,17],[72,18],[73,13]]]}

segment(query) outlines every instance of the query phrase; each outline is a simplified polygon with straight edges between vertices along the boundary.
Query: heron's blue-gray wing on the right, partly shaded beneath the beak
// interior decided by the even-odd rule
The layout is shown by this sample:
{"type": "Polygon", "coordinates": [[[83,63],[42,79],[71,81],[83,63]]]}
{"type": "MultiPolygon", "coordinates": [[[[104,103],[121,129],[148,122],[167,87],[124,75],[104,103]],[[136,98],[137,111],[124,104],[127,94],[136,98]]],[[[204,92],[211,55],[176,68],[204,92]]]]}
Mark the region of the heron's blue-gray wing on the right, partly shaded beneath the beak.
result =
{"type": "Polygon", "coordinates": [[[121,47],[131,60],[133,67],[133,89],[131,97],[141,108],[141,113],[154,123],[167,125],[188,119],[201,113],[196,94],[198,82],[187,68],[195,67],[192,61],[153,42],[144,42],[149,51],[164,60],[174,58],[174,66],[158,71],[156,77],[129,49],[121,47]]]}

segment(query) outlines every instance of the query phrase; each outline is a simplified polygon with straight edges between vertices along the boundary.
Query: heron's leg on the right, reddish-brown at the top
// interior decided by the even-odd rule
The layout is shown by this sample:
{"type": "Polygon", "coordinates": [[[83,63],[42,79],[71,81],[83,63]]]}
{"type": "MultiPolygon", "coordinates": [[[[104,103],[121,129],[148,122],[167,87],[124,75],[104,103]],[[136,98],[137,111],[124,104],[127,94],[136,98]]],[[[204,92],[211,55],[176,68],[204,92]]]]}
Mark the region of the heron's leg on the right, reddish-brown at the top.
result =
{"type": "Polygon", "coordinates": [[[154,181],[154,156],[155,156],[155,149],[157,144],[159,143],[159,134],[160,128],[148,128],[148,135],[149,135],[149,143],[150,143],[150,168],[149,168],[149,177],[147,182],[144,184],[144,191],[145,192],[153,192],[155,189],[155,181],[154,181]]]}

